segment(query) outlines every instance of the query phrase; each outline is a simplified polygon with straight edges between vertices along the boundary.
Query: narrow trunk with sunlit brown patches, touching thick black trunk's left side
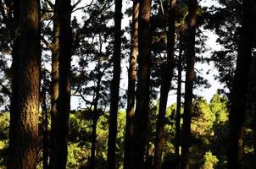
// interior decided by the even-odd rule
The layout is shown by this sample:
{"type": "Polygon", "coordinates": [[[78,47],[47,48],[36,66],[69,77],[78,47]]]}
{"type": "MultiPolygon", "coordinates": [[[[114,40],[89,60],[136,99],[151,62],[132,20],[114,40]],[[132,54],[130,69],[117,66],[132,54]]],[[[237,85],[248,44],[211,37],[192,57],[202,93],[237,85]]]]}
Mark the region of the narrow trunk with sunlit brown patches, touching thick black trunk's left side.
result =
{"type": "Polygon", "coordinates": [[[59,57],[59,20],[58,20],[59,0],[54,4],[53,15],[53,51],[52,51],[52,83],[51,83],[51,132],[50,132],[50,168],[53,168],[53,161],[57,162],[58,149],[57,134],[57,100],[58,100],[58,57],[59,57]]]}

